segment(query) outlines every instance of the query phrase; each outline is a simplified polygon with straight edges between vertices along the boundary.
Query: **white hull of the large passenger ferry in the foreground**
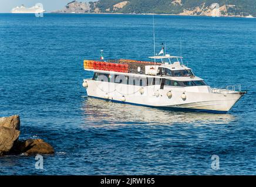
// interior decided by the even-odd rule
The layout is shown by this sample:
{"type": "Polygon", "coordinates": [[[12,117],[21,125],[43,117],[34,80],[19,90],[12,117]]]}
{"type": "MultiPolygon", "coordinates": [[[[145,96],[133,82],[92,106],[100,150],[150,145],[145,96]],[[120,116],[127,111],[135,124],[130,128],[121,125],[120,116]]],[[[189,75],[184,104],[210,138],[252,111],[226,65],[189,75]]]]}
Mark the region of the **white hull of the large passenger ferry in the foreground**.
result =
{"type": "Polygon", "coordinates": [[[87,95],[113,102],[149,106],[171,110],[193,110],[198,112],[227,113],[244,93],[213,93],[209,86],[191,88],[166,87],[160,85],[123,85],[87,79],[87,95]],[[171,92],[171,97],[167,96],[171,92]]]}

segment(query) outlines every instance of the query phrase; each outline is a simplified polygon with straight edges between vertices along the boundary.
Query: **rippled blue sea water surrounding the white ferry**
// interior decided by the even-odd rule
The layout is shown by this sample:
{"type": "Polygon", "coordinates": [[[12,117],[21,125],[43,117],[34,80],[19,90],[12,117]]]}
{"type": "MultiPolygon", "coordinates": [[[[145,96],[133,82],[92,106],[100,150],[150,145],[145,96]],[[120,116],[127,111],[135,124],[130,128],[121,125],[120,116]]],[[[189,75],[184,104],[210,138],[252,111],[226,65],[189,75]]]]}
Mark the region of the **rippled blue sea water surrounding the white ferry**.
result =
{"type": "Polygon", "coordinates": [[[215,87],[248,93],[225,115],[87,98],[84,59],[153,55],[152,16],[0,14],[0,116],[56,154],[0,158],[1,175],[255,175],[256,19],[155,16],[156,44],[215,87]],[[212,155],[220,168],[211,168],[212,155]]]}

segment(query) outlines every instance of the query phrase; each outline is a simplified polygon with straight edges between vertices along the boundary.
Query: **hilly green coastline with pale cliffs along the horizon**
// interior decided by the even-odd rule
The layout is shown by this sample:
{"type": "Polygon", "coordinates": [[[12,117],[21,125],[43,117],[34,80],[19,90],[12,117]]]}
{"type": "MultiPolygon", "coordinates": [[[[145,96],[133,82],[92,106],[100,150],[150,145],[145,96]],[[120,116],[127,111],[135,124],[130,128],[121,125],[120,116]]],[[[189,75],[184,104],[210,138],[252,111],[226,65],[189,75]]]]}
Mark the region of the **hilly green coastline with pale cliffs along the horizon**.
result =
{"type": "Polygon", "coordinates": [[[99,0],[72,1],[59,13],[159,13],[211,16],[213,5],[220,7],[221,16],[256,17],[256,0],[99,0]]]}

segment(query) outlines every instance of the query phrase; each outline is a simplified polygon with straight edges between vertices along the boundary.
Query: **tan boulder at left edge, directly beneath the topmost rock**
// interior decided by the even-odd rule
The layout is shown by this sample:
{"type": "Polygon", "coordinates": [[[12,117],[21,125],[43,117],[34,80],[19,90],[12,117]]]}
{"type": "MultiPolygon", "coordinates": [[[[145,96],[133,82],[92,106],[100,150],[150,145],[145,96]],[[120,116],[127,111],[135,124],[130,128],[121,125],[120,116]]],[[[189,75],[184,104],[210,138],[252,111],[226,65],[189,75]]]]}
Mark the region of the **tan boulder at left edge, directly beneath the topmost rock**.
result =
{"type": "Polygon", "coordinates": [[[14,141],[18,140],[19,130],[0,127],[0,155],[11,150],[14,146],[14,141]]]}

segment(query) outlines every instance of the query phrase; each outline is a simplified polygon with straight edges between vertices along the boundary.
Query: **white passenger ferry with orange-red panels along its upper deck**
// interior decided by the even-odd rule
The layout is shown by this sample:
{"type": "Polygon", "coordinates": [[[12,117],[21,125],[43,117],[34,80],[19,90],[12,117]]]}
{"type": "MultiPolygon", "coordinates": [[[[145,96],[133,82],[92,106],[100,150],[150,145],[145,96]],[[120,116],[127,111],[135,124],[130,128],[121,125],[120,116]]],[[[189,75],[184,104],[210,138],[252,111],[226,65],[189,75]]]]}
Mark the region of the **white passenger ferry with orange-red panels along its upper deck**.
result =
{"type": "Polygon", "coordinates": [[[84,69],[93,72],[92,78],[83,79],[87,96],[154,108],[227,113],[246,93],[241,85],[211,88],[183,64],[183,57],[149,58],[84,60],[84,69]]]}

